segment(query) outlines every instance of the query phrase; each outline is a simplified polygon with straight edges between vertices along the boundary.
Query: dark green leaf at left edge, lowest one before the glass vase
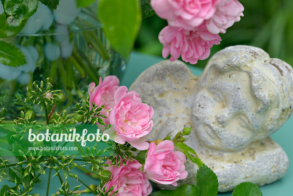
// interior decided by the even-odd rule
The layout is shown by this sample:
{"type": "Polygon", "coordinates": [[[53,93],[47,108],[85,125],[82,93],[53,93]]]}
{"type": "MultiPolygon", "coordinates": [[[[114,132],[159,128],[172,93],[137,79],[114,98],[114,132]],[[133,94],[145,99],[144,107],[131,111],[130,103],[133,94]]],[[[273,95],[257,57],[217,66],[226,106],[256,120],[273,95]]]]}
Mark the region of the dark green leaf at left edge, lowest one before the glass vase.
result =
{"type": "Polygon", "coordinates": [[[26,62],[23,54],[17,47],[0,41],[0,63],[11,67],[17,67],[26,62]]]}

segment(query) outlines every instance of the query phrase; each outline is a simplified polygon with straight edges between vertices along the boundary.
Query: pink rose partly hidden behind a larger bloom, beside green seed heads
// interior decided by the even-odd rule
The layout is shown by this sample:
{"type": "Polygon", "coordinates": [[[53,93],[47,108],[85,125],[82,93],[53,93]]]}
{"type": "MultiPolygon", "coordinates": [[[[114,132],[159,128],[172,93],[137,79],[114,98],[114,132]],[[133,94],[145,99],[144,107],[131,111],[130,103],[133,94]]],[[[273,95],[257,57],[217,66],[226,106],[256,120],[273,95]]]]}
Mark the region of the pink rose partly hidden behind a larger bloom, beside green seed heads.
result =
{"type": "MultiPolygon", "coordinates": [[[[105,107],[100,111],[100,114],[108,116],[108,110],[114,107],[114,93],[119,88],[119,79],[117,76],[107,76],[102,81],[102,77],[99,79],[99,85],[96,86],[94,82],[88,85],[88,94],[90,106],[93,102],[95,105],[104,104],[105,107]]],[[[109,124],[108,118],[103,118],[106,124],[109,124]]]]}

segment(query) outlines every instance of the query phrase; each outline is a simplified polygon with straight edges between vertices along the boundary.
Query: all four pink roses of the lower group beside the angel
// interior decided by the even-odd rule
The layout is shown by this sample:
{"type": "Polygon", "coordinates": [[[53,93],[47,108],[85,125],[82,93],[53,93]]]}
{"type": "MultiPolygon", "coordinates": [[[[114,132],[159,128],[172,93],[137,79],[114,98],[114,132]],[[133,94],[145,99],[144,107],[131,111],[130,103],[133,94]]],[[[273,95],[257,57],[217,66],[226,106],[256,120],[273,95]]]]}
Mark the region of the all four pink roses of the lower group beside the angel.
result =
{"type": "Polygon", "coordinates": [[[137,92],[128,91],[126,86],[118,85],[119,79],[116,76],[107,76],[103,81],[100,78],[98,86],[91,83],[88,89],[91,107],[93,104],[104,105],[100,113],[107,117],[104,118],[105,123],[111,125],[110,129],[104,132],[110,135],[110,139],[119,144],[128,142],[136,149],[148,151],[143,161],[144,167],[142,161],[135,159],[124,162],[120,158],[108,160],[110,166],[106,169],[111,171],[112,176],[104,185],[106,192],[115,186],[109,190],[110,194],[118,190],[117,195],[146,196],[152,191],[148,180],[176,186],[177,180],[185,179],[188,175],[184,166],[185,154],[174,151],[174,143],[171,140],[150,144],[147,142],[145,136],[153,127],[151,118],[154,109],[143,103],[137,92]]]}

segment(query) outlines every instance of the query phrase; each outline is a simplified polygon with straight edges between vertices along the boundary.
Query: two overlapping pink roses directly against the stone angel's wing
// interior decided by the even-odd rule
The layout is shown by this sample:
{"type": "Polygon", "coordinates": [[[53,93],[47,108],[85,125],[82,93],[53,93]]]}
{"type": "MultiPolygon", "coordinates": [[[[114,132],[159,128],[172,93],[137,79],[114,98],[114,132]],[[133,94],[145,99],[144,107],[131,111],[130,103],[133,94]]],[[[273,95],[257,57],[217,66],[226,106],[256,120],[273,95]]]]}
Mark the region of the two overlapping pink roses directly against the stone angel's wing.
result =
{"type": "Polygon", "coordinates": [[[128,142],[139,150],[146,150],[149,148],[149,143],[145,136],[153,127],[151,118],[154,109],[142,103],[137,92],[127,92],[126,86],[118,85],[119,79],[116,76],[107,76],[103,81],[100,77],[98,86],[95,86],[95,83],[89,85],[89,102],[105,105],[100,114],[107,116],[104,122],[112,126],[112,129],[105,133],[110,137],[114,136],[115,142],[119,144],[128,142]]]}

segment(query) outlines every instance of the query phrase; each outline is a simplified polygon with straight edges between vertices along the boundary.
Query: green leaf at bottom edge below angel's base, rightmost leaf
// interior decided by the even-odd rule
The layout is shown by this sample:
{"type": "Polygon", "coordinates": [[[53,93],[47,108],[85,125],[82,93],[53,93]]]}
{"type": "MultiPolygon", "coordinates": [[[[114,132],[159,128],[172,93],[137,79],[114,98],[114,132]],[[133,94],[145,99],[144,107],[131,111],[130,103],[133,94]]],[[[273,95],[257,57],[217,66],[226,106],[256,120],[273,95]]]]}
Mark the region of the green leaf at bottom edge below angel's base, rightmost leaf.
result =
{"type": "Polygon", "coordinates": [[[258,185],[253,183],[240,183],[236,186],[232,196],[262,196],[258,185]]]}

